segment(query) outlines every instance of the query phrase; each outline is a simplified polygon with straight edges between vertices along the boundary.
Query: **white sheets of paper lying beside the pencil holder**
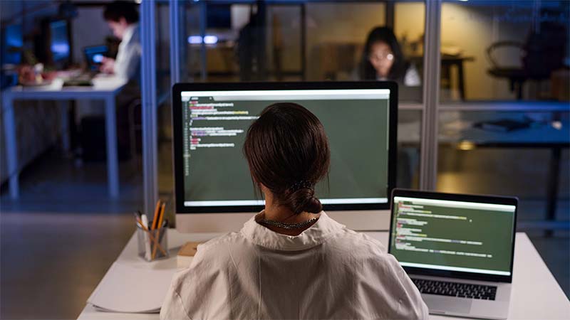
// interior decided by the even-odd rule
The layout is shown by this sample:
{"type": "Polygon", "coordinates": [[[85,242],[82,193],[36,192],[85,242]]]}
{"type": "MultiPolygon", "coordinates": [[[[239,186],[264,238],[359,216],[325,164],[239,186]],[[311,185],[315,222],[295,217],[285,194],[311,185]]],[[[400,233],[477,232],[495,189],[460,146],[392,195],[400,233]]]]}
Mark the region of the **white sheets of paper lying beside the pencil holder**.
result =
{"type": "Polygon", "coordinates": [[[115,262],[87,302],[105,311],[157,313],[175,272],[115,262]]]}

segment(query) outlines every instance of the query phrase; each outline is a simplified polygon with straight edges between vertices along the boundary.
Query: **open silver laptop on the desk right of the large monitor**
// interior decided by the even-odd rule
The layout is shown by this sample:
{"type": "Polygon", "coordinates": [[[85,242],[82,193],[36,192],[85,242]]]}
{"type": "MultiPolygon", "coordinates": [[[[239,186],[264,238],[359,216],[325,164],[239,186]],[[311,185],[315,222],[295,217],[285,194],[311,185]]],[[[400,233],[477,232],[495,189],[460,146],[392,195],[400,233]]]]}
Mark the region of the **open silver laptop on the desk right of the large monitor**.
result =
{"type": "Polygon", "coordinates": [[[507,319],[518,199],[394,189],[388,252],[430,314],[507,319]]]}

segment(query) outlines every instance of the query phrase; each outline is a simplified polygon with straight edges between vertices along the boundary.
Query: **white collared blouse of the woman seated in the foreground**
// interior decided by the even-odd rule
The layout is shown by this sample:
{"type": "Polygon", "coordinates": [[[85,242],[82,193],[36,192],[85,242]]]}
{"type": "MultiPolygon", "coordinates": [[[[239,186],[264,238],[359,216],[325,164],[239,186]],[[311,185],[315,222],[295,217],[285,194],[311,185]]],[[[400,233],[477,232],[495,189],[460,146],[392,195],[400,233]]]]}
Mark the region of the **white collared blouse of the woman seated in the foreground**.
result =
{"type": "Polygon", "coordinates": [[[383,249],[324,212],[296,236],[252,218],[198,246],[160,319],[427,319],[420,292],[383,249]]]}

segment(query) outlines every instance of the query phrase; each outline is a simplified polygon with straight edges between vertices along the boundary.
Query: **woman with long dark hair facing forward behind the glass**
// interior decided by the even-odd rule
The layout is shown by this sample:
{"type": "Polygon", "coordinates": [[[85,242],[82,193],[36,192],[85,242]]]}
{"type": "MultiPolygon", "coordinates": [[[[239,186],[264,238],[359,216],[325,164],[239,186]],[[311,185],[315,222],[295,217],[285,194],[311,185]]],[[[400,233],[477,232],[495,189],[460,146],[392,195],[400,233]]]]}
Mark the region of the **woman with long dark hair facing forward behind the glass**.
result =
{"type": "Polygon", "coordinates": [[[418,71],[406,63],[391,28],[376,27],[368,34],[359,70],[361,80],[393,80],[400,85],[421,85],[418,71]]]}

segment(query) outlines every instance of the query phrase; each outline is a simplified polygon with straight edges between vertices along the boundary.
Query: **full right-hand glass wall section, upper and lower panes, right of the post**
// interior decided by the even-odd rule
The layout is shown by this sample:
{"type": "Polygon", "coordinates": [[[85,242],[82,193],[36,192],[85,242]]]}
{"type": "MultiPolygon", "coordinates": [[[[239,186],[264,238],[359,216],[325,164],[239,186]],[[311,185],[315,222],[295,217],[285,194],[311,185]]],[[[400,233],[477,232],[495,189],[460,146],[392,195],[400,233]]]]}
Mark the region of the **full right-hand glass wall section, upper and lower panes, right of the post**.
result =
{"type": "Polygon", "coordinates": [[[568,1],[442,4],[437,190],[518,196],[520,226],[566,228],[569,16],[568,1]]]}

